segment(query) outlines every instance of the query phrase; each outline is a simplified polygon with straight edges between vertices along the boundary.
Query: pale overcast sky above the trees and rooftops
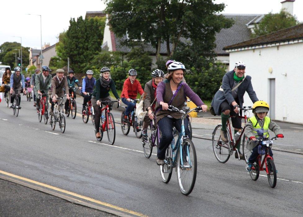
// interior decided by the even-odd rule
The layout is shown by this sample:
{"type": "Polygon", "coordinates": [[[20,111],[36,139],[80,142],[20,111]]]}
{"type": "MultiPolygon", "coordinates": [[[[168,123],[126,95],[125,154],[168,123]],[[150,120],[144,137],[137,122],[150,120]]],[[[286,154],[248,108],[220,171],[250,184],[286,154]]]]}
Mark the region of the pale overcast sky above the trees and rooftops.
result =
{"type": "MultiPolygon", "coordinates": [[[[281,9],[282,0],[216,0],[227,6],[223,13],[228,14],[266,14],[270,11],[277,13],[281,9]]],[[[9,0],[1,2],[0,13],[0,45],[3,42],[20,42],[21,36],[24,47],[40,49],[40,17],[26,14],[42,15],[42,44],[56,43],[57,36],[68,29],[71,17],[85,17],[86,11],[102,11],[105,8],[101,0],[9,0]],[[19,11],[19,13],[16,13],[19,11]],[[18,26],[22,20],[22,26],[18,26]]],[[[294,2],[294,14],[303,21],[303,0],[294,2]],[[301,9],[301,10],[300,10],[301,9]]]]}

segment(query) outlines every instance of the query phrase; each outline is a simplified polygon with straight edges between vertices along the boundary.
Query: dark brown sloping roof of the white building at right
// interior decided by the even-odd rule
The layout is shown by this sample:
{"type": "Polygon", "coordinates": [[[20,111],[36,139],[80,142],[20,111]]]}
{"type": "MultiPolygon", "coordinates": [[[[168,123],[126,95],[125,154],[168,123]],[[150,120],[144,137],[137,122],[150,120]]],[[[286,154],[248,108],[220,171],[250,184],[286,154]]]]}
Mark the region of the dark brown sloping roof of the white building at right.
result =
{"type": "Polygon", "coordinates": [[[303,39],[303,24],[224,47],[224,50],[303,39]]]}

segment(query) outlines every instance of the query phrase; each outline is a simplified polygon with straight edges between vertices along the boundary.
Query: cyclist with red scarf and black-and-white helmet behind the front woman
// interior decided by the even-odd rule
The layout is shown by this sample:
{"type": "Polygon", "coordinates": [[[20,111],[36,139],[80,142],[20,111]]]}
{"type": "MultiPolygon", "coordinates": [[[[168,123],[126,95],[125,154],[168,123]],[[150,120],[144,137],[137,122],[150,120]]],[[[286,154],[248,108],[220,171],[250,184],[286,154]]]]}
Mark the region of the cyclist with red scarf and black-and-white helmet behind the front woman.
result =
{"type": "Polygon", "coordinates": [[[147,127],[150,122],[154,118],[153,112],[155,111],[156,106],[156,90],[158,84],[163,81],[164,72],[160,69],[156,69],[152,72],[152,80],[147,82],[144,86],[144,96],[143,96],[143,111],[147,111],[144,121],[143,121],[143,131],[142,135],[147,136],[147,127]]]}

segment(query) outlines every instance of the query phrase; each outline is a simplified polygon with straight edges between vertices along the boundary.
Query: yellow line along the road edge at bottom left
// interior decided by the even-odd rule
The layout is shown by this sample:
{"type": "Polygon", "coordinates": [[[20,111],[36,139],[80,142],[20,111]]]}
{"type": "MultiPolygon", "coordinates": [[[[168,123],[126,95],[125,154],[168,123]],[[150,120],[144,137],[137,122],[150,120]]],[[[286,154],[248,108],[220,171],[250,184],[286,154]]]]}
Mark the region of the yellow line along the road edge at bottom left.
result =
{"type": "Polygon", "coordinates": [[[135,211],[132,211],[132,210],[128,210],[128,209],[125,209],[125,208],[121,208],[121,207],[119,207],[119,206],[112,205],[112,204],[110,204],[110,203],[98,201],[98,200],[95,200],[95,199],[93,199],[93,198],[91,198],[91,197],[86,197],[86,196],[83,196],[83,195],[80,195],[80,194],[77,194],[77,193],[74,193],[74,192],[70,192],[70,191],[67,191],[67,190],[64,190],[64,189],[61,189],[61,188],[57,188],[57,187],[48,185],[48,184],[44,184],[44,183],[41,183],[41,182],[34,181],[34,180],[31,180],[31,179],[27,179],[27,178],[25,178],[25,177],[18,176],[18,175],[14,175],[14,174],[11,174],[11,173],[2,171],[2,170],[0,170],[0,173],[2,173],[2,174],[4,174],[4,175],[7,175],[7,176],[10,176],[10,177],[14,177],[14,178],[17,178],[17,179],[24,180],[24,181],[27,181],[27,182],[30,182],[30,183],[33,183],[33,184],[37,184],[37,185],[43,186],[43,187],[45,187],[45,188],[50,188],[50,189],[55,190],[55,191],[59,191],[59,192],[62,192],[62,193],[66,193],[66,194],[72,195],[72,196],[74,196],[74,197],[79,197],[79,198],[81,198],[81,199],[84,199],[84,200],[87,200],[87,201],[91,201],[91,202],[100,204],[100,205],[102,205],[102,206],[107,206],[107,207],[110,207],[110,208],[115,209],[115,210],[120,210],[120,211],[129,213],[129,214],[132,214],[132,215],[147,216],[147,215],[143,215],[143,214],[141,214],[141,213],[138,213],[138,212],[135,212],[135,211]]]}

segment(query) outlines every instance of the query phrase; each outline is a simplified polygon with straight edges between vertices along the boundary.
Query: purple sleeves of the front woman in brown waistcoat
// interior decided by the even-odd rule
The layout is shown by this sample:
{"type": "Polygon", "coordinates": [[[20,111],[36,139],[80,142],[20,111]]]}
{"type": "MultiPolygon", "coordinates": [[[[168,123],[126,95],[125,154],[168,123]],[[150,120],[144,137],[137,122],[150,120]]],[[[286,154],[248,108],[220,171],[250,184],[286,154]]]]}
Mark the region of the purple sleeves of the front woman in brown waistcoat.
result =
{"type": "MultiPolygon", "coordinates": [[[[201,106],[201,105],[205,105],[202,100],[200,99],[200,97],[194,92],[192,91],[192,89],[186,84],[186,83],[182,83],[183,85],[183,89],[184,89],[184,93],[185,95],[192,100],[192,102],[194,104],[196,104],[197,106],[201,106]]],[[[157,90],[156,90],[156,97],[157,97],[157,101],[160,105],[160,102],[163,102],[163,92],[165,89],[165,83],[164,82],[160,82],[157,86],[157,90]]],[[[168,103],[168,102],[167,102],[168,103]]]]}

